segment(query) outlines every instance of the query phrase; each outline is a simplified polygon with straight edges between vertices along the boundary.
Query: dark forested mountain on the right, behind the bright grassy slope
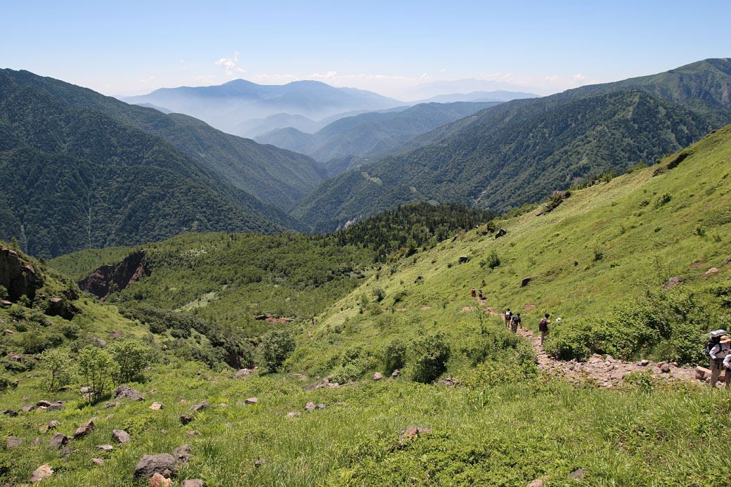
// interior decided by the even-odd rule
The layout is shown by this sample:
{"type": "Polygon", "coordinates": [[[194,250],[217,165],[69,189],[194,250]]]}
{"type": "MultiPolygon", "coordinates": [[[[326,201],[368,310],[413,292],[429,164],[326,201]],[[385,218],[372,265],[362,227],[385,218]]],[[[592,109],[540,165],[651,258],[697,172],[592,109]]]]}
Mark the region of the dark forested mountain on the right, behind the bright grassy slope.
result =
{"type": "Polygon", "coordinates": [[[534,203],[589,175],[654,162],[731,121],[728,72],[730,60],[711,59],[506,102],[415,137],[392,154],[417,147],[412,151],[325,181],[292,215],[331,231],[414,200],[496,212],[534,203]]]}

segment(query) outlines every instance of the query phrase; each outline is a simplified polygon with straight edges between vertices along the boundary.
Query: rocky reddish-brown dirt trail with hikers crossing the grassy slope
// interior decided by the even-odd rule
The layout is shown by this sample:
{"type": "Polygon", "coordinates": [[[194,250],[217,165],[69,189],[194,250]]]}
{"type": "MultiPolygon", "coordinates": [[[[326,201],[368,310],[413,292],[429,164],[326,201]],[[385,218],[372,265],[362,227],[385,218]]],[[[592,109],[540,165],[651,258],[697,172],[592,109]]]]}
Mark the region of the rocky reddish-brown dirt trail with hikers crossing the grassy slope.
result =
{"type": "MultiPolygon", "coordinates": [[[[502,317],[501,313],[495,312],[491,307],[485,306],[484,300],[477,300],[478,309],[502,317]]],[[[674,363],[654,363],[649,360],[640,362],[625,362],[617,360],[611,355],[594,354],[588,360],[556,360],[549,357],[541,346],[539,336],[533,336],[533,331],[523,327],[518,328],[518,335],[525,337],[532,345],[538,358],[538,367],[542,371],[556,377],[564,377],[572,382],[586,382],[591,380],[605,388],[612,388],[620,385],[624,377],[635,371],[648,370],[654,377],[662,380],[681,379],[689,382],[700,382],[695,377],[695,369],[680,367],[674,363]]]]}

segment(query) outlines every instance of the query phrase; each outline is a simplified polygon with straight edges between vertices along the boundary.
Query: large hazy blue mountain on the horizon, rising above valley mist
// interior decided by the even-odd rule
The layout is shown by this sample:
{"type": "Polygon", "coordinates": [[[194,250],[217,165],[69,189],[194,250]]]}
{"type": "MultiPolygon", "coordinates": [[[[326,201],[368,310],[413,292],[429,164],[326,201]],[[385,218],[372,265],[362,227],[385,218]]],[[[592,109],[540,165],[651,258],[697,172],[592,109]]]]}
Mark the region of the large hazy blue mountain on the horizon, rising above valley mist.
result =
{"type": "Polygon", "coordinates": [[[160,88],[129,103],[152,103],[205,120],[217,129],[236,132],[242,122],[276,113],[301,115],[313,120],[351,110],[379,110],[404,105],[372,91],[335,88],[319,81],[294,81],[286,85],[259,85],[232,80],[219,86],[160,88]]]}

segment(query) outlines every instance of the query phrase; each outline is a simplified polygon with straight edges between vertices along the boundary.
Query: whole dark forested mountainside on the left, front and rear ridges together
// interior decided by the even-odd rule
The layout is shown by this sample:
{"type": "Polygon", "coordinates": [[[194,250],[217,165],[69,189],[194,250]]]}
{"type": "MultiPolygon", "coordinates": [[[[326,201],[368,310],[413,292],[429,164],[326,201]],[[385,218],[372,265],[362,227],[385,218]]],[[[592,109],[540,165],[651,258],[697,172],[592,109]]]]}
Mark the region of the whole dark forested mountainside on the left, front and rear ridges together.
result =
{"type": "Polygon", "coordinates": [[[260,181],[270,197],[285,202],[287,186],[303,192],[321,180],[307,156],[188,116],[0,70],[0,238],[17,238],[31,254],[54,257],[195,230],[302,230],[219,170],[246,184],[247,173],[264,170],[260,181]]]}

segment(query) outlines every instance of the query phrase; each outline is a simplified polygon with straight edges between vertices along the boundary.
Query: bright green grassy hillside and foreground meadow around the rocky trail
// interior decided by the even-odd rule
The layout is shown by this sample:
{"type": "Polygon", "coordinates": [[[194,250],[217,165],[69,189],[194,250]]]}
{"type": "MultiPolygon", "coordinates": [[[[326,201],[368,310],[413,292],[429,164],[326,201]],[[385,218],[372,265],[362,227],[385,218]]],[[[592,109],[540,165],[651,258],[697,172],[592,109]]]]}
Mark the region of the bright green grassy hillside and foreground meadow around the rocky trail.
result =
{"type": "MultiPolygon", "coordinates": [[[[548,377],[537,371],[526,341],[498,317],[470,309],[476,303],[469,289],[479,287],[487,294],[485,306],[519,310],[529,328],[545,311],[561,316],[564,325],[552,328],[549,347],[567,338],[579,344],[588,338],[583,345],[595,346],[596,336],[571,334],[586,323],[620,332],[612,343],[621,343],[667,318],[667,336],[653,336],[627,356],[674,358],[686,340],[700,349],[702,332],[727,322],[721,316],[727,315],[730,287],[731,127],[680,154],[572,190],[550,211],[542,207],[540,216],[532,208],[501,220],[507,234],[500,238],[483,225],[382,265],[320,314],[314,327],[309,320],[271,326],[296,337],[281,368],[267,366],[262,339],[252,355],[260,369],[234,379],[234,369],[207,362],[203,352],[220,329],[213,333],[210,324],[183,314],[158,310],[154,317],[149,309],[138,314],[144,326],[128,328],[132,336],[135,326],[154,331],[152,369],[129,382],[143,401],[107,409],[105,401],[113,399],[102,396],[89,404],[78,392],[85,385],[79,376],[69,388],[47,392],[44,369],[7,369],[15,362],[4,359],[4,407],[20,411],[40,399],[66,403],[59,411],[0,415],[7,437],[24,440],[0,451],[0,480],[27,482],[48,463],[54,473],[43,485],[143,486],[148,480],[132,477],[141,456],[189,445],[188,460],[173,475],[177,483],[507,487],[543,478],[545,486],[723,485],[731,468],[723,453],[731,439],[727,391],[646,373],[612,389],[548,377]],[[468,261],[460,263],[462,256],[468,261]],[[710,268],[718,271],[708,273],[710,268]],[[520,287],[526,276],[533,279],[520,287]],[[662,290],[671,276],[681,284],[662,290]],[[652,304],[664,303],[651,306],[662,316],[632,314],[634,328],[616,318],[646,311],[648,291],[651,300],[661,300],[652,304]],[[614,308],[627,304],[617,314],[614,308]],[[394,368],[398,377],[371,379],[375,371],[394,368]],[[310,377],[289,375],[297,373],[310,377]],[[315,374],[356,383],[330,387],[315,374]],[[445,376],[457,380],[430,383],[445,376]],[[15,380],[20,382],[13,386],[15,380]],[[257,401],[246,404],[248,398],[257,401]],[[153,401],[162,409],[148,409],[153,401]],[[200,401],[210,405],[192,412],[200,401]],[[322,407],[308,411],[309,402],[322,407]],[[182,414],[192,422],[183,425],[182,414]],[[48,445],[54,431],[73,434],[92,417],[94,430],[69,440],[69,448],[48,445]],[[45,431],[50,420],[61,425],[45,431]],[[428,431],[409,439],[409,426],[428,431]],[[114,429],[124,429],[131,440],[116,444],[114,429]],[[97,448],[110,443],[113,450],[97,448]]],[[[205,257],[205,249],[194,246],[199,238],[183,235],[164,245],[179,248],[179,256],[205,257]]],[[[210,248],[215,238],[221,246],[236,244],[231,235],[205,238],[210,248]]],[[[181,260],[181,268],[186,263],[196,267],[181,260]]],[[[190,276],[179,276],[181,284],[192,284],[190,276]]],[[[5,320],[7,311],[0,309],[0,316],[5,320]]],[[[17,323],[10,326],[16,335],[27,333],[17,323]]],[[[0,342],[15,352],[12,336],[0,342]]]]}

